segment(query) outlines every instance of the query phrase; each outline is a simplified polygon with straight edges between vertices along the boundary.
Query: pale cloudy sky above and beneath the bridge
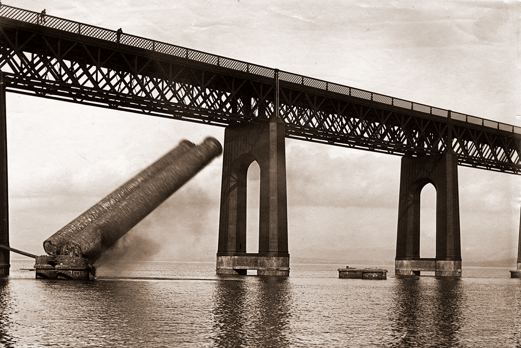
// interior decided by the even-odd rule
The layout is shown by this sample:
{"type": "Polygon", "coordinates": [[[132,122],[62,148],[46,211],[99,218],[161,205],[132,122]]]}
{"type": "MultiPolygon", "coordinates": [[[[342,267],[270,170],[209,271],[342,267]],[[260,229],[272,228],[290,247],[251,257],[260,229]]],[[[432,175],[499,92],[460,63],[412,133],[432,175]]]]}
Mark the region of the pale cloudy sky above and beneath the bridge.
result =
{"type": "MultiPolygon", "coordinates": [[[[520,2],[3,4],[521,125],[520,2]]],[[[224,138],[220,127],[12,93],[7,126],[10,244],[34,254],[181,139],[224,138]]],[[[393,264],[400,157],[292,139],[286,156],[291,257],[393,264]]],[[[221,166],[221,158],[212,162],[123,242],[154,260],[213,260],[221,166]]],[[[258,204],[256,170],[249,207],[258,204]]],[[[521,176],[460,166],[458,178],[463,264],[516,257],[521,176]]],[[[433,257],[435,189],[426,187],[422,197],[420,253],[433,257]]],[[[247,248],[256,252],[258,208],[248,217],[247,248]]]]}

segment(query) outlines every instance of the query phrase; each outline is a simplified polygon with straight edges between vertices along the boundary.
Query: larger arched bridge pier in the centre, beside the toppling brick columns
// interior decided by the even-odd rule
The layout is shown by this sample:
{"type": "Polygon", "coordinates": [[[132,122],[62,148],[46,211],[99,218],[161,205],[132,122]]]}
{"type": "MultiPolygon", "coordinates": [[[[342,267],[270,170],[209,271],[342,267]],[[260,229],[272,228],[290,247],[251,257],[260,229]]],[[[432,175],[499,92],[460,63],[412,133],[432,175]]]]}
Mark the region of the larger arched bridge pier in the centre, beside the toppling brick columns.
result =
{"type": "Polygon", "coordinates": [[[225,130],[217,274],[288,276],[288,207],[284,123],[231,125],[225,130]],[[246,253],[246,174],[261,168],[259,252],[246,253]]]}

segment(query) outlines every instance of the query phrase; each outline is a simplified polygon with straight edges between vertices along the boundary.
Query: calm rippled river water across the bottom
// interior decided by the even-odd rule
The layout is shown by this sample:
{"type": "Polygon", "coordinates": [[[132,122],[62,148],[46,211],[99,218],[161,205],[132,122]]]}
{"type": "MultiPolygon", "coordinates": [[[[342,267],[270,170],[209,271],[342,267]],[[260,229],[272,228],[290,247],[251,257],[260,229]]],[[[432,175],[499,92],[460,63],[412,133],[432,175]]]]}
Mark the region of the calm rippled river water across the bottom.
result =
{"type": "Polygon", "coordinates": [[[0,346],[521,347],[521,280],[509,268],[464,267],[455,280],[386,266],[387,280],[362,280],[339,279],[345,265],[272,278],[150,262],[64,281],[19,270],[33,263],[11,261],[0,280],[0,346]]]}

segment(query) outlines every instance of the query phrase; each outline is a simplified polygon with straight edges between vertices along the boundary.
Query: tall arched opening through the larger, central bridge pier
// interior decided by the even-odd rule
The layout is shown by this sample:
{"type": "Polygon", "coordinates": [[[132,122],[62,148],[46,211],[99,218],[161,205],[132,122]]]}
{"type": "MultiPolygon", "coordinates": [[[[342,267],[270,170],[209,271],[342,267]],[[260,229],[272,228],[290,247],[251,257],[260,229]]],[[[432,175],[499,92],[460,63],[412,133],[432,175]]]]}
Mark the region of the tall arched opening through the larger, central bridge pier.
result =
{"type": "Polygon", "coordinates": [[[246,174],[246,252],[259,250],[259,211],[261,197],[261,168],[253,161],[246,174]]]}

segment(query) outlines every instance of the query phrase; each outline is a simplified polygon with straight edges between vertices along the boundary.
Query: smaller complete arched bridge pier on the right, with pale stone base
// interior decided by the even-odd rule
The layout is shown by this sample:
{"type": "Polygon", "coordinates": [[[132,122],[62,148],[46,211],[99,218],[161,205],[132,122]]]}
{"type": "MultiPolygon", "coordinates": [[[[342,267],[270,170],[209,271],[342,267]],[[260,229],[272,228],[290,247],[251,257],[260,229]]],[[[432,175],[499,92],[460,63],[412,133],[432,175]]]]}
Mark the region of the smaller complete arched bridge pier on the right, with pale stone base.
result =
{"type": "Polygon", "coordinates": [[[461,277],[460,203],[457,156],[403,157],[396,240],[396,275],[461,277]],[[428,183],[436,188],[436,258],[420,258],[420,192],[428,183]]]}

